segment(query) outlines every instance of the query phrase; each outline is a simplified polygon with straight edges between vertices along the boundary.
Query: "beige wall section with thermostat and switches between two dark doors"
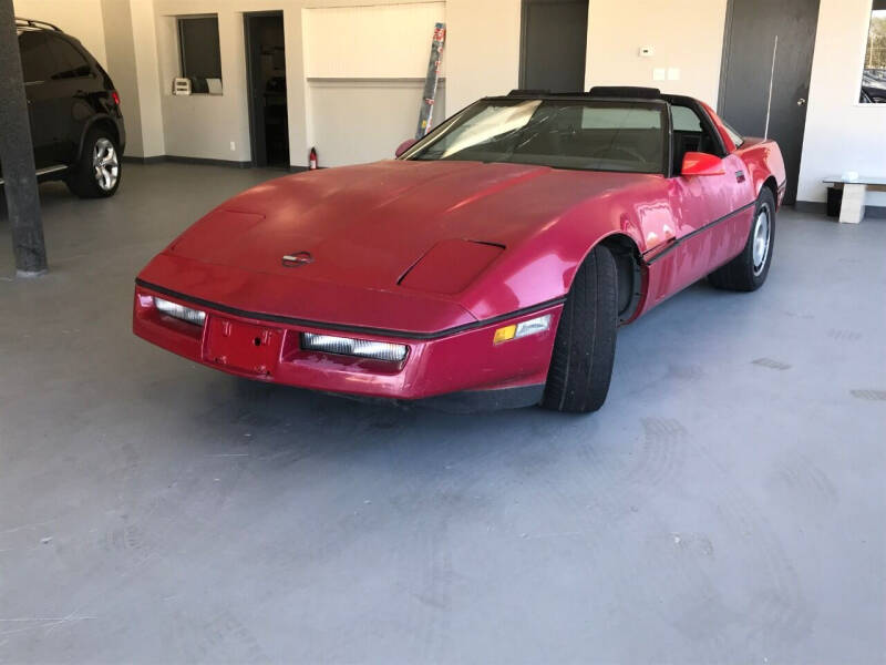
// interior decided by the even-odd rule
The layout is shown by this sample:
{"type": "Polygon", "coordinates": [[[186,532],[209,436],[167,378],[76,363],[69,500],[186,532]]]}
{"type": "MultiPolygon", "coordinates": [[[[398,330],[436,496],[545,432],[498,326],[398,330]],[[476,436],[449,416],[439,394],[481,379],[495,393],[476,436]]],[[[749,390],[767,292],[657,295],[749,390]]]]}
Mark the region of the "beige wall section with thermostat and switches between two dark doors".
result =
{"type": "Polygon", "coordinates": [[[717,106],[727,0],[589,0],[586,89],[649,85],[717,106]],[[652,58],[641,58],[641,47],[652,58]],[[679,70],[657,81],[656,69],[679,70]]]}

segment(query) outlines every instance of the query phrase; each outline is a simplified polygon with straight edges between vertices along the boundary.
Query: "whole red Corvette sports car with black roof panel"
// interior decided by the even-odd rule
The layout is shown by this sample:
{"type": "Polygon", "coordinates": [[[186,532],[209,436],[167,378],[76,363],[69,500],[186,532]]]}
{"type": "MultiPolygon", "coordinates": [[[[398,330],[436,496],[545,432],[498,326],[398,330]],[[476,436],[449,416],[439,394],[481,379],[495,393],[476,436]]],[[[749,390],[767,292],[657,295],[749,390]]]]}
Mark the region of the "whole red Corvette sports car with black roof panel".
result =
{"type": "Polygon", "coordinates": [[[133,328],[276,383],[595,411],[619,325],[704,276],[763,284],[784,186],[773,141],[694,99],[513,91],[223,203],[138,274],[133,328]]]}

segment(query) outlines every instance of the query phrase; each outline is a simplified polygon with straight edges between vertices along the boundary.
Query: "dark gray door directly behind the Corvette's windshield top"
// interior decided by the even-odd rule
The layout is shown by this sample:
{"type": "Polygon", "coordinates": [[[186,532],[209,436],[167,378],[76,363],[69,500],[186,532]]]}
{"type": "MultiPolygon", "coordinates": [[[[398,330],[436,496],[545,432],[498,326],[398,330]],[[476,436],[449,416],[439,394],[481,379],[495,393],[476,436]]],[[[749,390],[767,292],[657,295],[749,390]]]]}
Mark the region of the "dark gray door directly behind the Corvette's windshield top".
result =
{"type": "Polygon", "coordinates": [[[581,92],[587,41],[587,0],[523,0],[519,86],[581,92]]]}

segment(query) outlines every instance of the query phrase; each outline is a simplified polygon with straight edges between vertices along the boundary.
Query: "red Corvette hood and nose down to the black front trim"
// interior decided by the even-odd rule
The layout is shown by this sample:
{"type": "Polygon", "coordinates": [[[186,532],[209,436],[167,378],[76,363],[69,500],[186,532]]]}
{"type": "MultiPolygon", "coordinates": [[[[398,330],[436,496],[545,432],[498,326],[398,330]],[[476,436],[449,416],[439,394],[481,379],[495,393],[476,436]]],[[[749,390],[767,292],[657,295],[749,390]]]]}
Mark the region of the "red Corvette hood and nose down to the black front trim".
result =
{"type": "Polygon", "coordinates": [[[313,320],[375,325],[373,313],[384,309],[385,328],[461,325],[490,314],[462,303],[463,287],[481,274],[493,278],[505,255],[578,203],[652,177],[445,161],[301,173],[222,204],[140,277],[244,309],[313,320]],[[285,265],[285,255],[303,260],[285,265]],[[413,269],[414,278],[404,279],[413,269]],[[418,295],[444,303],[439,316],[398,314],[392,321],[391,311],[403,307],[423,310],[418,295]]]}

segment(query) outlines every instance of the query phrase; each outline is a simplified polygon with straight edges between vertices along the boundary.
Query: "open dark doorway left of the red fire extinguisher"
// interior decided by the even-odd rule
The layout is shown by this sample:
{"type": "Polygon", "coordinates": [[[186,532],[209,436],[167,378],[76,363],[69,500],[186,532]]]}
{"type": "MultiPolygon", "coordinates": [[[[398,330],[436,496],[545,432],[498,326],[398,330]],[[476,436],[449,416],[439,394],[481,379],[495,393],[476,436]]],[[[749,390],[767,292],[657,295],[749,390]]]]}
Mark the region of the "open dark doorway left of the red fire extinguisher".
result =
{"type": "Polygon", "coordinates": [[[250,12],[244,21],[253,162],[288,168],[284,12],[250,12]]]}

